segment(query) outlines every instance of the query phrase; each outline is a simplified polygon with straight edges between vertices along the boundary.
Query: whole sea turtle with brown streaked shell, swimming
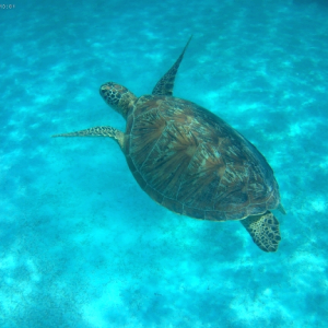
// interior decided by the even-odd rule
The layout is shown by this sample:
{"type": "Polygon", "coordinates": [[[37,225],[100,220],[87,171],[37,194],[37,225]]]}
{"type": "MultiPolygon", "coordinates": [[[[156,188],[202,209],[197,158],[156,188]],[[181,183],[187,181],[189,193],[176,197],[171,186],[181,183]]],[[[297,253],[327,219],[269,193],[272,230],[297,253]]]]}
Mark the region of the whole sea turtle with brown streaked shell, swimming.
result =
{"type": "Polygon", "coordinates": [[[195,219],[241,220],[260,249],[276,251],[281,237],[270,210],[284,210],[266,159],[213,113],[173,96],[190,39],[151,95],[137,97],[116,82],[101,86],[104,101],[127,120],[126,132],[95,127],[54,137],[113,138],[157,203],[195,219]]]}

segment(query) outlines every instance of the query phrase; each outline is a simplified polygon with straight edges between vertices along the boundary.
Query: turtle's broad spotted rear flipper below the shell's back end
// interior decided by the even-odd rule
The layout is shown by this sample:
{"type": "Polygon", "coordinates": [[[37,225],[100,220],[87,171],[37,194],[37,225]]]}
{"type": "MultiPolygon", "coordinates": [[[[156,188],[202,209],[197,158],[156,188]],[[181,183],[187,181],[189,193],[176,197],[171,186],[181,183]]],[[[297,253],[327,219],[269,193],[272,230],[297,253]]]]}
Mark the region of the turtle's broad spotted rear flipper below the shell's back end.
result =
{"type": "Polygon", "coordinates": [[[265,251],[278,249],[278,244],[281,241],[279,222],[270,211],[262,215],[248,216],[241,222],[260,249],[265,251]]]}

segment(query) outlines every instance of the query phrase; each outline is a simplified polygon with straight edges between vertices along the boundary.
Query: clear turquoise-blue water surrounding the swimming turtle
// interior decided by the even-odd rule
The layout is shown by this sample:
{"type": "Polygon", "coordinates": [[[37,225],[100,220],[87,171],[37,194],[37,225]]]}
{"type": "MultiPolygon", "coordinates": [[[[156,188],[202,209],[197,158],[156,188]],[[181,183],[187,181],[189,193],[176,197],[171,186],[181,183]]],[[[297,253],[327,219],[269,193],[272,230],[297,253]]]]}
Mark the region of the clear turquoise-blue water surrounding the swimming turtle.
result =
{"type": "Polygon", "coordinates": [[[0,10],[0,327],[327,327],[327,1],[24,2],[0,10]],[[99,85],[150,93],[190,34],[175,95],[266,155],[278,253],[153,202],[112,140],[50,138],[124,130],[99,85]]]}

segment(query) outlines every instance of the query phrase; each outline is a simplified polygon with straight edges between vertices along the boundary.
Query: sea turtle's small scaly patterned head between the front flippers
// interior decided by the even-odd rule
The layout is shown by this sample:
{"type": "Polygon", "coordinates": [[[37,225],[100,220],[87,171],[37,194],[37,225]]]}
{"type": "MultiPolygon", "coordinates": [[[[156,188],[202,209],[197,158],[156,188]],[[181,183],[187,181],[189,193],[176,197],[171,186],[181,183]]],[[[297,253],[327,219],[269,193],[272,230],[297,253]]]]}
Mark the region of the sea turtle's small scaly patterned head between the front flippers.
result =
{"type": "Polygon", "coordinates": [[[137,97],[125,86],[115,82],[107,82],[101,86],[101,96],[113,109],[127,118],[129,110],[132,108],[137,97]]]}

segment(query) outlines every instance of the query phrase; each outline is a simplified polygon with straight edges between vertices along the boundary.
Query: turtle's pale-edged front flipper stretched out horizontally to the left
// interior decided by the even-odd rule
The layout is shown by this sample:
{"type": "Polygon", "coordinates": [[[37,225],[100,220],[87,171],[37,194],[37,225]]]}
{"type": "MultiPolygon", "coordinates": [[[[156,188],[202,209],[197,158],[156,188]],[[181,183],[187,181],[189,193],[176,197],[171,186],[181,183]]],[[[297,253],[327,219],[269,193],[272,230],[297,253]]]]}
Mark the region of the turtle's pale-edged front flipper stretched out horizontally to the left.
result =
{"type": "Polygon", "coordinates": [[[109,137],[115,139],[121,149],[125,141],[125,133],[112,127],[95,127],[75,132],[55,134],[52,137],[109,137]]]}

